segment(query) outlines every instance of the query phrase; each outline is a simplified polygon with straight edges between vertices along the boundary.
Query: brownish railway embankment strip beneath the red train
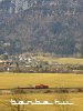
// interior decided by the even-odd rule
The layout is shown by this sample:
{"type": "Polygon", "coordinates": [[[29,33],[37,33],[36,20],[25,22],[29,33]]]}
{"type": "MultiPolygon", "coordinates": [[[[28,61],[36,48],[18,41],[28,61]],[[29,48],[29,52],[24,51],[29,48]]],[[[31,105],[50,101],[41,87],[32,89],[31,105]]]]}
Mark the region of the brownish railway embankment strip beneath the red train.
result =
{"type": "Polygon", "coordinates": [[[69,92],[82,92],[83,93],[83,88],[48,88],[48,89],[13,88],[13,89],[0,89],[0,94],[12,94],[12,93],[69,93],[69,92]]]}

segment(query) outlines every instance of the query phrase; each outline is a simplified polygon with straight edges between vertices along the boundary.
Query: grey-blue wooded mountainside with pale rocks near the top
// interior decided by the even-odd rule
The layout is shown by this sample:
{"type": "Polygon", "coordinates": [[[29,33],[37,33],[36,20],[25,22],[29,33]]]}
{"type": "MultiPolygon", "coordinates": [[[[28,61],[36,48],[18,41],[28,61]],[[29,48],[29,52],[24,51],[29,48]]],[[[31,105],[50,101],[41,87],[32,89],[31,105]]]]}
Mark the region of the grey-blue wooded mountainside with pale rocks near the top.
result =
{"type": "Polygon", "coordinates": [[[1,0],[0,53],[27,51],[83,54],[83,1],[1,0]]]}

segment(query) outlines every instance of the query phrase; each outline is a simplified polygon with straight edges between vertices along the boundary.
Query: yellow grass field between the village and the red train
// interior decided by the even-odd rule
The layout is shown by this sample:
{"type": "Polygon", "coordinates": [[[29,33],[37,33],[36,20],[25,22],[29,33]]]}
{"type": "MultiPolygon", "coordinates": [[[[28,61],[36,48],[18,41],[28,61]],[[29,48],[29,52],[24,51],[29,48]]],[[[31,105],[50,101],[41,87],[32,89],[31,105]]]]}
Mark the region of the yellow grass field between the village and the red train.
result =
{"type": "Polygon", "coordinates": [[[83,74],[72,73],[0,73],[0,89],[48,84],[50,88],[82,88],[83,74]]]}

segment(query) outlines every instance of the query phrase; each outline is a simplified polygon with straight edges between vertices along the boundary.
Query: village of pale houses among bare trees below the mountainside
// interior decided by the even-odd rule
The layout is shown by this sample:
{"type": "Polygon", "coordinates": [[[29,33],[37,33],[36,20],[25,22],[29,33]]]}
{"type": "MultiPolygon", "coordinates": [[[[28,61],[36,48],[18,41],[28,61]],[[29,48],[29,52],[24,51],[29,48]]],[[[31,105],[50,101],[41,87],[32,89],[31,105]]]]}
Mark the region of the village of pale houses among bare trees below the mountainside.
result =
{"type": "MultiPolygon", "coordinates": [[[[0,60],[1,72],[33,72],[33,73],[83,73],[83,64],[60,63],[58,61],[45,60],[50,56],[24,53],[19,56],[4,54],[0,60]],[[39,57],[39,58],[38,58],[39,57]]],[[[1,58],[1,56],[0,56],[1,58]]],[[[55,57],[52,56],[53,59],[55,57]]]]}

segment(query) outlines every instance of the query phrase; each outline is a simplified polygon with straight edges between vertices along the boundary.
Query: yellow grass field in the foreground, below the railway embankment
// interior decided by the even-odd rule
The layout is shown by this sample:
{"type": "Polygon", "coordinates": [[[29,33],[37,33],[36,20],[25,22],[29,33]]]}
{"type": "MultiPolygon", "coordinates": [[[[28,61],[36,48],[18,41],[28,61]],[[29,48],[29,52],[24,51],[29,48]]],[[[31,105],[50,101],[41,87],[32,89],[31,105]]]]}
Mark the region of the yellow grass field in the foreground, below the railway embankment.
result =
{"type": "MultiPolygon", "coordinates": [[[[15,105],[11,105],[10,100],[17,99],[22,101],[49,101],[53,102],[54,99],[59,101],[70,101],[72,105],[24,105],[23,111],[83,111],[83,93],[52,93],[52,94],[15,94],[15,95],[0,95],[0,111],[19,111],[15,105]],[[15,110],[12,110],[12,109],[15,110]]],[[[22,105],[20,105],[22,108],[22,105]]]]}

